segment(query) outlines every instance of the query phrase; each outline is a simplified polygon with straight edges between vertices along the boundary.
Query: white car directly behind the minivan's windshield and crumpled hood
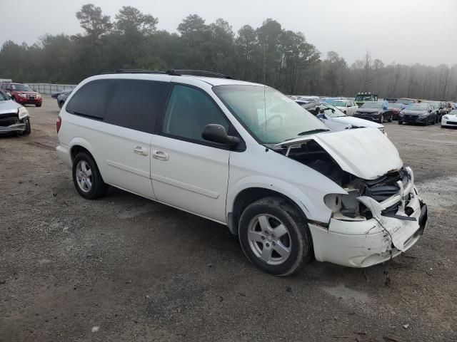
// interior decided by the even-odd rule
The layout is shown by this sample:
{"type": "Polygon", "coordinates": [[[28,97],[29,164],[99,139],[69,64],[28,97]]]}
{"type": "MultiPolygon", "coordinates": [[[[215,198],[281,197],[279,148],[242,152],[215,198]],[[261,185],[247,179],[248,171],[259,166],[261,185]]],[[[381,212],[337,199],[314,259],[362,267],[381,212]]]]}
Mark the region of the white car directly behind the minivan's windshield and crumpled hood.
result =
{"type": "Polygon", "coordinates": [[[333,131],[345,130],[348,128],[371,127],[377,128],[378,130],[381,130],[382,133],[384,133],[383,125],[380,125],[379,123],[373,123],[373,121],[348,116],[339,110],[338,107],[333,106],[330,103],[310,102],[300,105],[301,107],[308,110],[309,113],[313,114],[323,123],[325,123],[326,126],[328,126],[328,128],[333,131]]]}

